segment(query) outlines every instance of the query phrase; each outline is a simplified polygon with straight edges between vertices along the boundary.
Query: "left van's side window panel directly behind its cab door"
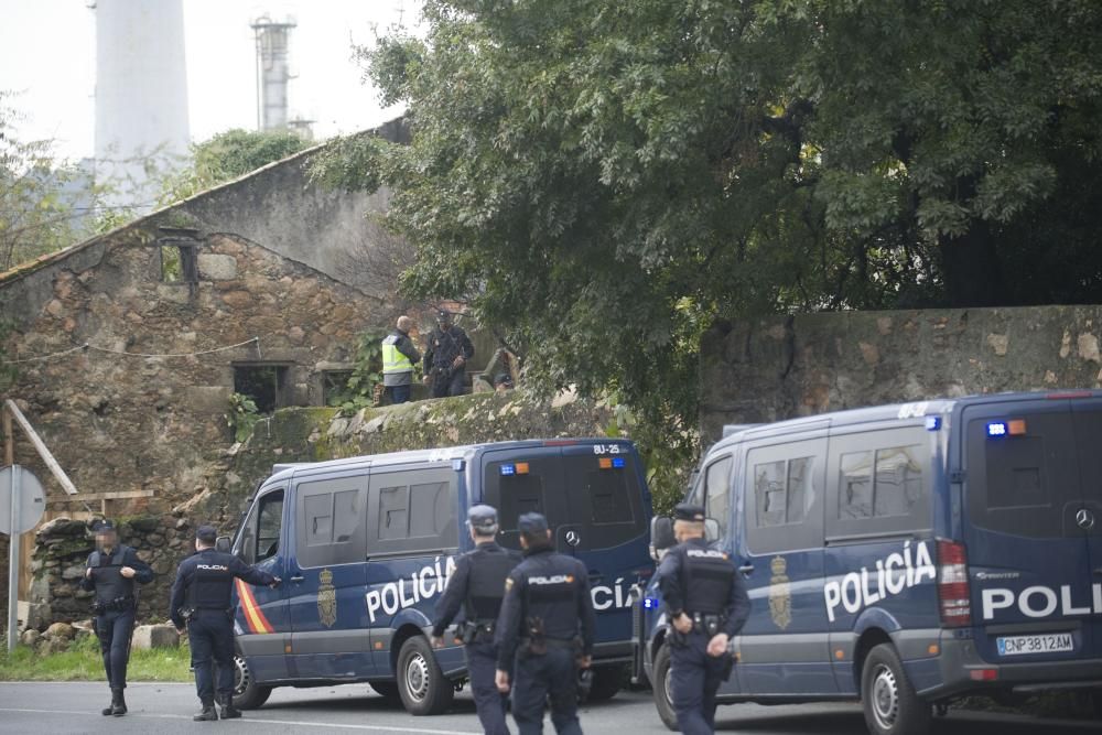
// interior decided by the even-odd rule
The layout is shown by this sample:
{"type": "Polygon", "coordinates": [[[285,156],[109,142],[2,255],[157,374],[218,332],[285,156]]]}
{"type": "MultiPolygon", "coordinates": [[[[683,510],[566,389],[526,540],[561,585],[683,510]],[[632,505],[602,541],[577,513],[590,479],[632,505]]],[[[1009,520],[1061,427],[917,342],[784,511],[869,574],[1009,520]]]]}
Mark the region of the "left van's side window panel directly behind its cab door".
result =
{"type": "Polygon", "coordinates": [[[364,561],[367,477],[301,483],[298,497],[298,562],[328,566],[364,561]]]}

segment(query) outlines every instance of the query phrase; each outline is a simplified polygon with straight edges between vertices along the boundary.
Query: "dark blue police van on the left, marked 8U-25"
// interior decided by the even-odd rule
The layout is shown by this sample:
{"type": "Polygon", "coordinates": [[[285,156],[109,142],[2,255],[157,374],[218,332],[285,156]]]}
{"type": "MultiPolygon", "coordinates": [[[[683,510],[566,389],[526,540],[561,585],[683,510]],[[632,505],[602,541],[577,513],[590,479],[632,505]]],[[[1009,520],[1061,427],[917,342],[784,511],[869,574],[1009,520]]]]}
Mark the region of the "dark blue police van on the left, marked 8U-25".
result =
{"type": "MultiPolygon", "coordinates": [[[[622,440],[522,441],[277,466],[250,501],[233,552],[283,580],[236,584],[235,702],[273,687],[369,682],[412,714],[435,714],[465,675],[460,641],[428,634],[457,554],[466,509],[547,516],[558,550],[590,570],[597,610],[590,698],[613,696],[631,660],[631,592],[649,577],[651,501],[622,440]]],[[[226,540],[228,545],[229,540],[226,540]]]]}

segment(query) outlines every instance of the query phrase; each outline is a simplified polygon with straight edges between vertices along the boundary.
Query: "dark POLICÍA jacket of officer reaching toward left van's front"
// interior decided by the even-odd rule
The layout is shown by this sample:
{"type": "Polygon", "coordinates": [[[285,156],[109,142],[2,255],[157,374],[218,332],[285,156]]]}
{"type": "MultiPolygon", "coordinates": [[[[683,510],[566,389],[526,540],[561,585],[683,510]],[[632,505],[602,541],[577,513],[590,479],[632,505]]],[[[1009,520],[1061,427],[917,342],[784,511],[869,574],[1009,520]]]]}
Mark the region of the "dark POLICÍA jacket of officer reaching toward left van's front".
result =
{"type": "Polygon", "coordinates": [[[234,577],[249,584],[273,584],[276,577],[249,566],[234,554],[203,549],[180,563],[172,584],[169,616],[177,627],[184,627],[185,608],[227,612],[233,607],[234,577]]]}

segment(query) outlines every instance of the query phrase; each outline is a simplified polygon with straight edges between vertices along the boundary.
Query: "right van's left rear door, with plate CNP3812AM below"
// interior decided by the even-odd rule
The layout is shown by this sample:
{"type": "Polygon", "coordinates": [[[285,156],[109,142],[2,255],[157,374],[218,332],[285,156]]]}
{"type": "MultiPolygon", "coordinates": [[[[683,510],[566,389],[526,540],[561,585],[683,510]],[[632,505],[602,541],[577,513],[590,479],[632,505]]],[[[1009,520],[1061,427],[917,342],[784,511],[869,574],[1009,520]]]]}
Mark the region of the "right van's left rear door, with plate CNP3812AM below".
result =
{"type": "Polygon", "coordinates": [[[961,436],[977,652],[993,663],[1089,657],[1096,644],[1071,402],[968,406],[961,436]]]}

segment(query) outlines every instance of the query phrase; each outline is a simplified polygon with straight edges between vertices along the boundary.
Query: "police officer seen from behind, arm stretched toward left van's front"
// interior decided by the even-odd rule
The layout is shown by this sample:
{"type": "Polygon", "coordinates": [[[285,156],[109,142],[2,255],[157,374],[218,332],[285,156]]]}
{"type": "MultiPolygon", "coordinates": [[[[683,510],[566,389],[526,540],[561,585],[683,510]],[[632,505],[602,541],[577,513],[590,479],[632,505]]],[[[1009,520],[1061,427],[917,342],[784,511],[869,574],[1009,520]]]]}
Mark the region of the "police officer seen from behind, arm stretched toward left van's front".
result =
{"type": "Polygon", "coordinates": [[[181,634],[187,625],[192,647],[192,667],[195,669],[195,688],[198,690],[203,711],[196,722],[218,720],[214,709],[215,682],[210,660],[218,664],[218,704],[222,718],[240,717],[234,706],[234,577],[249,584],[276,587],[278,576],[249,566],[233,554],[215,551],[218,532],[212,526],[199,526],[195,531],[195,551],[176,569],[172,585],[169,617],[181,634]]]}

